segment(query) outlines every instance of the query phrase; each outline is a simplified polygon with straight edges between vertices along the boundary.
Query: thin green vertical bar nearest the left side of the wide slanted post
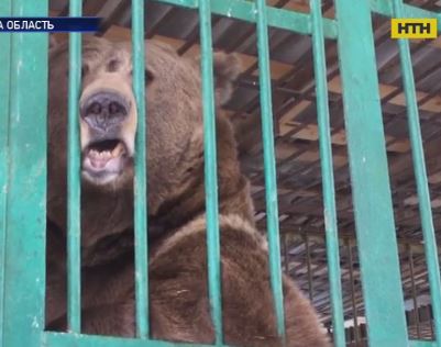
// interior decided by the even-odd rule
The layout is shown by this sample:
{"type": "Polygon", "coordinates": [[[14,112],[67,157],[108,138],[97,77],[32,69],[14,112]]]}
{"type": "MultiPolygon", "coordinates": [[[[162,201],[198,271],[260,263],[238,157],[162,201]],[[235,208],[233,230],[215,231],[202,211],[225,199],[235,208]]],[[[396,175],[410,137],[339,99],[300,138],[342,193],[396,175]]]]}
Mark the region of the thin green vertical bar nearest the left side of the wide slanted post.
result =
{"type": "Polygon", "coordinates": [[[311,0],[312,49],[334,346],[345,346],[321,0],[311,0]]]}

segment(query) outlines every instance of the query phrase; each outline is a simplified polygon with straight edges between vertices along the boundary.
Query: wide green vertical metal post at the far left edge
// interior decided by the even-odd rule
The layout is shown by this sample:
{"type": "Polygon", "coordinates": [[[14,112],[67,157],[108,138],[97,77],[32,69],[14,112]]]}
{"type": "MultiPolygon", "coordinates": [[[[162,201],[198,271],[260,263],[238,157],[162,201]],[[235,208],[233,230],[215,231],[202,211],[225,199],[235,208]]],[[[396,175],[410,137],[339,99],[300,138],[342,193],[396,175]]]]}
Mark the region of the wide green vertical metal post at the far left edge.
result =
{"type": "MultiPolygon", "coordinates": [[[[45,16],[47,1],[2,1],[0,12],[45,16]]],[[[1,76],[5,80],[0,83],[9,92],[0,91],[7,98],[0,101],[5,105],[0,114],[3,121],[9,108],[9,122],[0,127],[9,137],[9,161],[2,163],[8,171],[2,179],[8,181],[0,188],[7,192],[5,221],[1,222],[5,243],[0,264],[4,271],[0,345],[37,347],[44,329],[48,42],[43,33],[2,36],[5,46],[1,46],[0,60],[5,71],[1,76]]]]}

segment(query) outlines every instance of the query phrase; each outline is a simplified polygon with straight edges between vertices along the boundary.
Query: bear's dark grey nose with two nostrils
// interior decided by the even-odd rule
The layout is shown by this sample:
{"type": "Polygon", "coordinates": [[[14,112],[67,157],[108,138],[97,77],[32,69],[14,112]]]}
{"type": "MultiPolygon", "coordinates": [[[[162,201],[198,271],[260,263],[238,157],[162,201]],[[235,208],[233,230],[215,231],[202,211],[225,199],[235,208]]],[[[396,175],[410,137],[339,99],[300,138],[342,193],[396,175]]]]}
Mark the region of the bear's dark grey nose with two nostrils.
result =
{"type": "Polygon", "coordinates": [[[89,96],[80,107],[81,117],[97,131],[108,131],[119,125],[129,113],[124,97],[112,91],[100,91],[89,96]]]}

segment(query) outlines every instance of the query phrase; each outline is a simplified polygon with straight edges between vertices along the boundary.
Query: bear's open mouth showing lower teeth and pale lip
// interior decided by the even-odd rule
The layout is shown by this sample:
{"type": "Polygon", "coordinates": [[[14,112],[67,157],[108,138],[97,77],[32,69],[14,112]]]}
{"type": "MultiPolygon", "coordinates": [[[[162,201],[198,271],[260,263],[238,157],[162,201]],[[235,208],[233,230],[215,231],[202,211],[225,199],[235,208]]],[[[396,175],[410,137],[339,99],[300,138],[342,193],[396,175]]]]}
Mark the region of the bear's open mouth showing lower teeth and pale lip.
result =
{"type": "Polygon", "coordinates": [[[126,157],[126,146],[118,138],[93,142],[84,152],[82,171],[95,181],[108,181],[106,178],[118,176],[122,171],[126,157]]]}

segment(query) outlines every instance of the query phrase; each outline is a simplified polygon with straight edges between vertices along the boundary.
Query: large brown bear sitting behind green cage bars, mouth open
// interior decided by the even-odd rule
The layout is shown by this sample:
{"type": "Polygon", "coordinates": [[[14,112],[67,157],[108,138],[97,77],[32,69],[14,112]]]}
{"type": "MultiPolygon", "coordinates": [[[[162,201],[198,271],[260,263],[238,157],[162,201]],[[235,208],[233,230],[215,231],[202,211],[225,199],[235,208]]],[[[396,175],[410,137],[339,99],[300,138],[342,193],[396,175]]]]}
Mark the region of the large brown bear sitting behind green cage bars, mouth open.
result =
{"type": "MultiPolygon", "coordinates": [[[[146,41],[148,279],[151,336],[212,343],[207,288],[201,82],[197,59],[146,41]]],[[[49,57],[48,329],[66,328],[67,44],[49,57]]],[[[253,221],[249,181],[220,107],[239,74],[234,55],[214,54],[223,336],[233,346],[282,346],[268,253],[253,221]]],[[[128,43],[82,46],[81,332],[135,336],[133,156],[136,105],[128,43]]],[[[307,299],[283,278],[286,345],[329,346],[307,299]]]]}

